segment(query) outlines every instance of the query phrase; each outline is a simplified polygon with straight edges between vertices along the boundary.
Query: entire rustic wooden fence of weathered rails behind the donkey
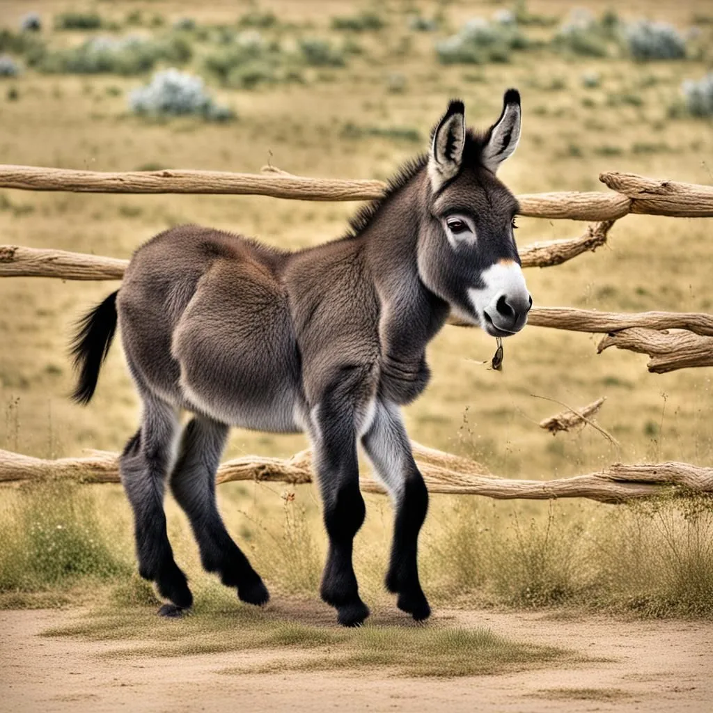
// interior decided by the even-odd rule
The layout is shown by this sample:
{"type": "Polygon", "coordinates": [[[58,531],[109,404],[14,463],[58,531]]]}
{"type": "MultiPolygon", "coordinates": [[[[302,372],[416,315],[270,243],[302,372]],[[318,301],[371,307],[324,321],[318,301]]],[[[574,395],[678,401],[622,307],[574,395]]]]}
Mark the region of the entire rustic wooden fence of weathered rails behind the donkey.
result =
{"type": "MultiPolygon", "coordinates": [[[[550,267],[604,245],[616,220],[629,213],[674,217],[713,217],[713,187],[644,178],[632,173],[602,173],[612,193],[539,193],[519,195],[520,215],[593,221],[583,235],[523,247],[523,267],[550,267]]],[[[294,200],[371,200],[384,193],[377,180],[304,178],[267,167],[260,174],[197,170],[101,173],[96,171],[0,166],[0,188],[75,193],[212,193],[265,195],[294,200]]],[[[0,277],[121,279],[128,260],[63,250],[0,245],[0,277]]],[[[451,319],[451,324],[469,325],[451,319]]],[[[649,354],[649,371],[713,366],[713,315],[645,312],[617,314],[567,307],[535,307],[528,324],[605,334],[597,352],[608,347],[649,354]]],[[[713,493],[713,468],[687,463],[622,465],[554,481],[494,478],[478,463],[414,443],[414,453],[429,490],[492,498],[583,497],[620,502],[651,496],[663,487],[713,493]]],[[[309,451],[287,459],[249,456],[220,466],[220,483],[236,480],[311,481],[309,451]]],[[[88,483],[118,482],[116,453],[94,452],[86,458],[44,461],[0,451],[0,483],[69,478],[88,483]]],[[[371,481],[365,491],[383,492],[371,481]]]]}

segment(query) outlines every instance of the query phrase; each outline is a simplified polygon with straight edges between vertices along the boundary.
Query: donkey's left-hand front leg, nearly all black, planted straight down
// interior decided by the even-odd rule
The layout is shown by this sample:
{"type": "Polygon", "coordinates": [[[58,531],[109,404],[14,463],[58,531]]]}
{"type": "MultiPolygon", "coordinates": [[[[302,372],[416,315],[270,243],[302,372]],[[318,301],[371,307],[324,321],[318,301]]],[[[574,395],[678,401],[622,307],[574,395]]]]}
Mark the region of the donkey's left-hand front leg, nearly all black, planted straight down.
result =
{"type": "Polygon", "coordinates": [[[352,565],[354,535],[364,522],[366,507],[359,491],[354,409],[340,404],[336,396],[324,399],[312,412],[315,464],[329,535],[320,593],[337,609],[340,624],[356,626],[369,616],[352,565]]]}

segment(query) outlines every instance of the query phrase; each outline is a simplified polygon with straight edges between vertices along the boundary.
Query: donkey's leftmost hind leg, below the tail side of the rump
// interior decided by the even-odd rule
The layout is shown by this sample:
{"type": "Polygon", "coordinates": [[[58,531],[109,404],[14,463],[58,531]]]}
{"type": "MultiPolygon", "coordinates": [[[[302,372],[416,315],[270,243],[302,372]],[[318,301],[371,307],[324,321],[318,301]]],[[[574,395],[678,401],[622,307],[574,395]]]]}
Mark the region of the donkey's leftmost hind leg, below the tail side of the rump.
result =
{"type": "Polygon", "coordinates": [[[164,401],[143,395],[143,423],[120,458],[121,481],[133,508],[140,575],[156,583],[162,597],[173,602],[159,613],[178,616],[193,604],[185,575],[173,560],[163,511],[165,478],[178,431],[175,410],[164,401]]]}

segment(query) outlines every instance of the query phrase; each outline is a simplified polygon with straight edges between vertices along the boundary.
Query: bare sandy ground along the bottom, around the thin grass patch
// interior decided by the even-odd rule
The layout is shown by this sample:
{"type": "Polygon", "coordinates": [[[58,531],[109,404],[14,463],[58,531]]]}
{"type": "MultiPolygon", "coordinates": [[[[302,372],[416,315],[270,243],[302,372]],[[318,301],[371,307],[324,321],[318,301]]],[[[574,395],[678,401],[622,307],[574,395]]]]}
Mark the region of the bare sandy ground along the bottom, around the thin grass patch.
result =
{"type": "Polygon", "coordinates": [[[226,654],[120,660],[101,657],[117,650],[116,642],[39,636],[75,615],[0,612],[0,711],[713,711],[710,622],[440,612],[463,625],[487,625],[599,660],[444,680],[349,671],[226,675],[220,671],[265,663],[275,652],[242,653],[236,642],[236,651],[226,654]]]}

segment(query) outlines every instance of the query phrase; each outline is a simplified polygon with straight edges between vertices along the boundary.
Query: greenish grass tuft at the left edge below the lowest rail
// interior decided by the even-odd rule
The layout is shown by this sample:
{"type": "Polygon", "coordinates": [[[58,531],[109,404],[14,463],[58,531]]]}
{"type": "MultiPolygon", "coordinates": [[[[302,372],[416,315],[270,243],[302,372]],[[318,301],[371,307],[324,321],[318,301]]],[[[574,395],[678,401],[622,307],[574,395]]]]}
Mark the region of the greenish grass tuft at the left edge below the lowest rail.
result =
{"type": "Polygon", "coordinates": [[[48,483],[24,488],[0,520],[0,592],[33,592],[78,580],[128,576],[91,493],[48,483]]]}

